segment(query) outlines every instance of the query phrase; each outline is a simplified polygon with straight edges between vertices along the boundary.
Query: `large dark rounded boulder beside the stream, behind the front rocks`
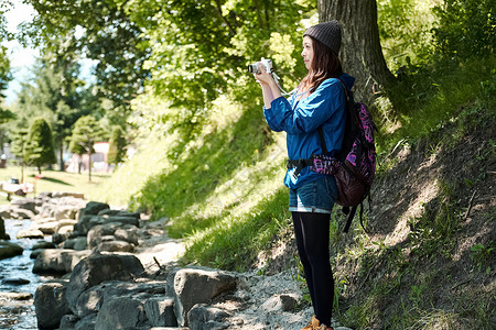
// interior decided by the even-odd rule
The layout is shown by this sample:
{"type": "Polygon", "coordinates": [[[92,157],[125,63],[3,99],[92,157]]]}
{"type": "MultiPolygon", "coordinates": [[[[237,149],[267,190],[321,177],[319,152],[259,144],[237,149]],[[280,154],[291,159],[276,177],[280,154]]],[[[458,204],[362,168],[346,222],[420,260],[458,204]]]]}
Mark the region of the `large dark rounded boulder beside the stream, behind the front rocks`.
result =
{"type": "Polygon", "coordinates": [[[67,286],[67,301],[73,310],[79,296],[87,289],[105,280],[130,280],[144,272],[143,265],[134,255],[93,255],[80,261],[71,274],[67,286]]]}

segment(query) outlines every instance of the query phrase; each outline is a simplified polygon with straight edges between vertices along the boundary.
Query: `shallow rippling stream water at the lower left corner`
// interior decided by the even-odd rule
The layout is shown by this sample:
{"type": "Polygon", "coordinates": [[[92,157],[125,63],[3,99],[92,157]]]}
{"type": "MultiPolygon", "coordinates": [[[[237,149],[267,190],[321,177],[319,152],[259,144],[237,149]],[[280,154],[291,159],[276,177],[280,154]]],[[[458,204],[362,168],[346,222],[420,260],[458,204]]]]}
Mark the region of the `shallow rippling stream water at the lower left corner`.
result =
{"type": "MultiPolygon", "coordinates": [[[[33,262],[30,258],[31,248],[42,240],[15,239],[21,229],[26,229],[31,220],[11,220],[7,219],[6,232],[10,235],[10,242],[24,248],[22,255],[0,261],[0,292],[1,293],[29,293],[33,295],[36,288],[45,280],[52,277],[33,274],[33,262]],[[12,285],[6,284],[7,278],[28,279],[29,284],[12,285]]],[[[50,237],[45,241],[51,241],[50,237]]],[[[29,300],[7,300],[0,298],[0,329],[25,330],[37,329],[36,316],[34,312],[33,298],[29,300]]]]}

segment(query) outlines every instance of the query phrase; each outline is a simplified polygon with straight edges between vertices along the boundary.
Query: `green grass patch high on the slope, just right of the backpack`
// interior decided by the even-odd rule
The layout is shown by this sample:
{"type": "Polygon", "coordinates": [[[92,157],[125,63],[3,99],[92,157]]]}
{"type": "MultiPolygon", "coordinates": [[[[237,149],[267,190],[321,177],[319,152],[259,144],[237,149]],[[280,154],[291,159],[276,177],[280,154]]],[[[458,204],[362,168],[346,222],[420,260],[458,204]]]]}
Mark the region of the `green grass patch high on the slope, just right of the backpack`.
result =
{"type": "MultiPolygon", "coordinates": [[[[436,63],[412,68],[376,101],[378,150],[390,151],[403,139],[417,141],[460,116],[467,107],[495,111],[496,57],[436,63]]],[[[463,132],[463,131],[462,131],[463,132]]]]}

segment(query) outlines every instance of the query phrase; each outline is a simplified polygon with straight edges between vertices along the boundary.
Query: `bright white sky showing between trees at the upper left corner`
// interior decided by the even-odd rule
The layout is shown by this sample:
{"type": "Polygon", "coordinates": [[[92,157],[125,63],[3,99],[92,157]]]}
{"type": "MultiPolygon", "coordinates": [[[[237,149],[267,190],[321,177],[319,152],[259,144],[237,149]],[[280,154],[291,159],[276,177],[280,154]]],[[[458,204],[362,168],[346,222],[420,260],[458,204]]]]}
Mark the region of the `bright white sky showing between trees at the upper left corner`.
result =
{"type": "MultiPolygon", "coordinates": [[[[32,7],[22,3],[21,0],[12,0],[13,8],[4,13],[7,19],[7,29],[10,32],[17,32],[18,25],[22,22],[32,21],[35,11],[32,7]]],[[[36,50],[24,48],[19,42],[3,42],[2,45],[9,48],[10,65],[14,79],[9,84],[6,91],[6,102],[10,105],[17,98],[17,94],[21,90],[21,81],[25,81],[31,74],[30,68],[40,54],[36,50]]]]}

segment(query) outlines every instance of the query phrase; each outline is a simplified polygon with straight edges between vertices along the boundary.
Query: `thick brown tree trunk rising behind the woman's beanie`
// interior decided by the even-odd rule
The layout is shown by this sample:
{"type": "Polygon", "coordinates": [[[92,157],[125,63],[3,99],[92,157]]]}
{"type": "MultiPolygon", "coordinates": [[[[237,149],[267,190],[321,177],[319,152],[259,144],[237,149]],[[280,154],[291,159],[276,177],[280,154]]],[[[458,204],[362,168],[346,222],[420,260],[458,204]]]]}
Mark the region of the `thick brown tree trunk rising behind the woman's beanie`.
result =
{"type": "Polygon", "coordinates": [[[355,99],[370,102],[395,79],[382,55],[376,0],[319,0],[319,20],[337,20],[343,41],[339,58],[345,73],[356,78],[355,99]]]}

